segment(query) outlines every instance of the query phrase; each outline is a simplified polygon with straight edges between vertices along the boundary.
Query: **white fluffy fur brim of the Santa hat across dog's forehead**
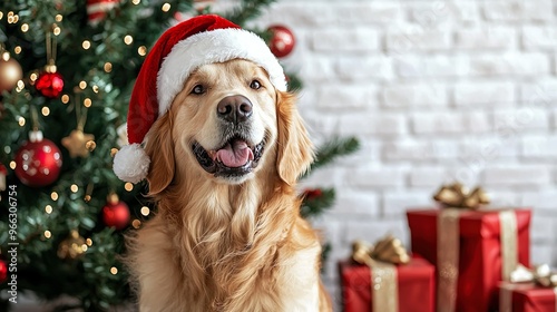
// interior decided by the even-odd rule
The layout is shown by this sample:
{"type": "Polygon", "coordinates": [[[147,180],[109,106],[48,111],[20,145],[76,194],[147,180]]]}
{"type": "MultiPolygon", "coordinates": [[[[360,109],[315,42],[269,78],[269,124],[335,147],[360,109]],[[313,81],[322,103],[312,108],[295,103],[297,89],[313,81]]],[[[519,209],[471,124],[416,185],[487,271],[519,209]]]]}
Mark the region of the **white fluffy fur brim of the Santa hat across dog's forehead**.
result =
{"type": "Polygon", "coordinates": [[[273,86],[281,91],[286,90],[284,70],[261,37],[244,29],[215,29],[179,41],[164,59],[157,76],[158,116],[168,110],[195,69],[235,58],[263,67],[273,86]]]}

